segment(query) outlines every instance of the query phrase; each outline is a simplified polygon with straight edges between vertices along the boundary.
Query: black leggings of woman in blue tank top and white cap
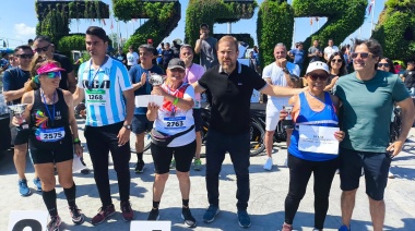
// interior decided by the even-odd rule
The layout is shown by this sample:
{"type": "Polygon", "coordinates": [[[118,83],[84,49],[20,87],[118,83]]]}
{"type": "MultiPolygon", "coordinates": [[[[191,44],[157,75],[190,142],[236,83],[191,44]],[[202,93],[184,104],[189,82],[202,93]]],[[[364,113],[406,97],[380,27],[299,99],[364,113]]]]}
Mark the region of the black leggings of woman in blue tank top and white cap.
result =
{"type": "Polygon", "coordinates": [[[288,154],[289,192],[285,198],[285,222],[293,224],[299,202],[306,194],[308,180],[315,174],[315,228],[323,229],[329,209],[329,195],[339,158],[327,161],[309,161],[288,154]]]}

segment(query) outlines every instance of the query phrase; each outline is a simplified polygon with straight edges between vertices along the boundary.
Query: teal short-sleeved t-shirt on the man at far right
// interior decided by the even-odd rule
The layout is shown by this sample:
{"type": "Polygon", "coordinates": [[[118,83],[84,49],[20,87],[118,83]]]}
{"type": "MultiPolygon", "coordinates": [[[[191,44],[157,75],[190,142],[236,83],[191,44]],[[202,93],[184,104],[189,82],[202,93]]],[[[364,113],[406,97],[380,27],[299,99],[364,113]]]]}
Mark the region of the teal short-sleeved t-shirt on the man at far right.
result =
{"type": "Polygon", "coordinates": [[[334,93],[343,102],[340,127],[346,136],[341,147],[370,153],[384,153],[389,146],[389,125],[393,102],[410,97],[398,75],[377,71],[370,81],[356,73],[342,76],[334,93]]]}

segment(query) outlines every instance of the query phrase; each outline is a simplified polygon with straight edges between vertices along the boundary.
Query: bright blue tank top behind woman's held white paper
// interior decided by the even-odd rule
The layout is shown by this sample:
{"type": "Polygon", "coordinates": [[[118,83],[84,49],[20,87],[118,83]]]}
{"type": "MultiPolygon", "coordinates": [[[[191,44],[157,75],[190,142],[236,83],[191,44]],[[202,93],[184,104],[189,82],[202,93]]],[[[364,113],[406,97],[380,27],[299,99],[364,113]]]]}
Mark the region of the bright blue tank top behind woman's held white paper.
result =
{"type": "Polygon", "coordinates": [[[317,126],[331,126],[336,127],[339,124],[337,115],[335,114],[335,108],[331,101],[330,94],[324,93],[324,108],[321,111],[313,111],[306,99],[305,93],[299,94],[299,112],[295,120],[295,129],[290,137],[290,144],[288,153],[300,159],[310,161],[324,161],[331,160],[337,157],[337,155],[318,154],[310,151],[298,150],[298,127],[299,124],[317,125],[317,126]]]}

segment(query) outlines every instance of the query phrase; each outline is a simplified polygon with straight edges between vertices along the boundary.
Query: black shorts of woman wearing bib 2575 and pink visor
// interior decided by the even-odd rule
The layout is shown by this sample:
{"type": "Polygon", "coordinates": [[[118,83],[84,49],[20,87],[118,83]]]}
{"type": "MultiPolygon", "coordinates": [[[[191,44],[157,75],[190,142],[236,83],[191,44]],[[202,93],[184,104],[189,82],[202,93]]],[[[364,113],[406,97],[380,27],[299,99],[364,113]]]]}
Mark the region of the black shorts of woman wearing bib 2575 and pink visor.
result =
{"type": "Polygon", "coordinates": [[[66,136],[61,142],[39,144],[29,142],[33,163],[63,162],[73,159],[72,135],[66,136]]]}

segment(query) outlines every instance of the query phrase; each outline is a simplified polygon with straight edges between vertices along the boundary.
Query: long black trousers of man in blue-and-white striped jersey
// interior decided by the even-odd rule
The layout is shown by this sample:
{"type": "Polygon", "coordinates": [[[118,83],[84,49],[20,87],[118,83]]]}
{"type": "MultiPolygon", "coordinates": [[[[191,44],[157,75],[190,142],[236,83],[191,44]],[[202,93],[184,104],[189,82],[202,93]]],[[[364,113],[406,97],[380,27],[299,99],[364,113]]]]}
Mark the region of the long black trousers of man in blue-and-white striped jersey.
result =
{"type": "Polygon", "coordinates": [[[114,170],[117,172],[118,190],[121,202],[130,199],[130,142],[118,146],[118,132],[122,123],[105,126],[85,126],[86,146],[94,167],[94,179],[103,206],[111,205],[108,177],[108,153],[111,151],[114,170]]]}

